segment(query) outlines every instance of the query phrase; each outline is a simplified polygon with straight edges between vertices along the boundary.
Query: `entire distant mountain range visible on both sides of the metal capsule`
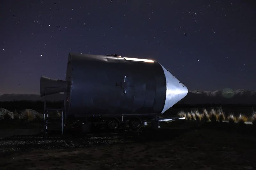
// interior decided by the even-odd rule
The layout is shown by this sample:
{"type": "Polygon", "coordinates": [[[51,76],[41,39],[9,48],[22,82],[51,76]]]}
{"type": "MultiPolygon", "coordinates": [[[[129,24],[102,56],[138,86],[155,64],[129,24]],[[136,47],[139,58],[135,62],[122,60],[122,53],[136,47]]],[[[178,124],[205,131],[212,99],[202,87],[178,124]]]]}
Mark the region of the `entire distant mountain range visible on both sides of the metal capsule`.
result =
{"type": "MultiPolygon", "coordinates": [[[[3,94],[0,101],[44,101],[44,97],[36,94],[3,94]]],[[[63,94],[47,96],[48,101],[63,100],[63,94]]],[[[179,104],[256,104],[256,90],[231,90],[202,91],[190,90],[179,104]]]]}

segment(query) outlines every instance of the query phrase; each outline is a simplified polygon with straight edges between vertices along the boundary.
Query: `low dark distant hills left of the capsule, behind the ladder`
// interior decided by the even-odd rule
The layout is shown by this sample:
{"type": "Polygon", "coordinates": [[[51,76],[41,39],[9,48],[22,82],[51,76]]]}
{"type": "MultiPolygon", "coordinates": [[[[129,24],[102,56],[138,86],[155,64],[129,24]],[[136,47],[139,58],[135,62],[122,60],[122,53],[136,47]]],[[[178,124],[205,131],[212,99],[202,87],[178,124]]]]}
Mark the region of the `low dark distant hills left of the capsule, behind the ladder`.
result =
{"type": "MultiPolygon", "coordinates": [[[[63,94],[52,94],[47,96],[47,101],[61,101],[63,94]]],[[[44,97],[37,94],[3,94],[0,95],[0,101],[44,101],[44,97]]]]}

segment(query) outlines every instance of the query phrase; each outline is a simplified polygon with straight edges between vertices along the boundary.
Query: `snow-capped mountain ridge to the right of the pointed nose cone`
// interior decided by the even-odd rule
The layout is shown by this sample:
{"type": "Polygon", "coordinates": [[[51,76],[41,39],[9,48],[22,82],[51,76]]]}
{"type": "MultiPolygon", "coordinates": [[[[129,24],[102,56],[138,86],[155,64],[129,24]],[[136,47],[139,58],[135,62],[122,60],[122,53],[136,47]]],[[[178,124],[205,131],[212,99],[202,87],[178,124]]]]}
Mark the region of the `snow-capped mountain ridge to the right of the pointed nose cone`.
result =
{"type": "Polygon", "coordinates": [[[191,90],[180,100],[182,104],[256,104],[255,90],[201,91],[191,90]]]}

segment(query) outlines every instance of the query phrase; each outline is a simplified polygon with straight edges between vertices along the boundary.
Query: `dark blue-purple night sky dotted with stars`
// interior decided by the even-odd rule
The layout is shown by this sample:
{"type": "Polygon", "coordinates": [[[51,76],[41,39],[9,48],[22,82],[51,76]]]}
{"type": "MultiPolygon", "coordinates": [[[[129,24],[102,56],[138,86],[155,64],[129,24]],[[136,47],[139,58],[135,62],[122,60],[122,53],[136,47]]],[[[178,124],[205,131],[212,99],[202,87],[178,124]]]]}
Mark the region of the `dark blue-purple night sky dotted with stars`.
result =
{"type": "Polygon", "coordinates": [[[0,95],[65,79],[69,52],[155,59],[188,90],[256,90],[255,1],[1,1],[0,95]]]}

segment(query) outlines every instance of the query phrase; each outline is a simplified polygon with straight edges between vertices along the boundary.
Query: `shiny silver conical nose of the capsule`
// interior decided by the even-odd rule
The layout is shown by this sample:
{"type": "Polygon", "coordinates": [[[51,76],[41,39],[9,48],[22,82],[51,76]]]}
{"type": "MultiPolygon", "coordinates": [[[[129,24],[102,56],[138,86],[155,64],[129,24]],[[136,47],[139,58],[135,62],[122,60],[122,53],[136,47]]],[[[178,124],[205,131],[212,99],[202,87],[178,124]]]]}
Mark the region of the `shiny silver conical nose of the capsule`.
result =
{"type": "MultiPolygon", "coordinates": [[[[161,65],[161,64],[160,64],[161,65]]],[[[161,65],[162,66],[162,65],[161,65]]],[[[175,78],[167,69],[162,66],[166,78],[166,99],[164,103],[164,108],[161,113],[164,113],[175,103],[180,101],[188,94],[188,89],[181,83],[177,78],[175,78]]]]}

